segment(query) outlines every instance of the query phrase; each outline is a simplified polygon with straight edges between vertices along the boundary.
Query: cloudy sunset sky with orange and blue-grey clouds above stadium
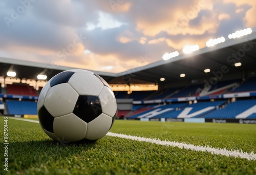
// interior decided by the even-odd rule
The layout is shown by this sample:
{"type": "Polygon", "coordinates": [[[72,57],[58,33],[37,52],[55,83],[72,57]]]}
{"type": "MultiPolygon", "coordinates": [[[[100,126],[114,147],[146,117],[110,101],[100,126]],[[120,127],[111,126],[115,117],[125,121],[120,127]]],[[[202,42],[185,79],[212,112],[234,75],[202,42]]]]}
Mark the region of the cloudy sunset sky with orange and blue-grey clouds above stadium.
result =
{"type": "Polygon", "coordinates": [[[250,27],[255,0],[0,1],[0,57],[120,73],[250,27]]]}

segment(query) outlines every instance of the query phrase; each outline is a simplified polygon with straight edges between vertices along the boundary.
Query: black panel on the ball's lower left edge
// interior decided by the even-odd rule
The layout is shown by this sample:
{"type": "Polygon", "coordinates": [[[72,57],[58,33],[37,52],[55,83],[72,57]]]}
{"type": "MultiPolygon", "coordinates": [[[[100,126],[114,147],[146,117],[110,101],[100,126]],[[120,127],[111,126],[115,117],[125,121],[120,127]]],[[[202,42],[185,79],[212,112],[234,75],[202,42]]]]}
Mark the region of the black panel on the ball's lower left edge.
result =
{"type": "Polygon", "coordinates": [[[44,129],[53,133],[53,120],[54,117],[47,111],[45,106],[42,106],[38,111],[39,121],[44,129]]]}

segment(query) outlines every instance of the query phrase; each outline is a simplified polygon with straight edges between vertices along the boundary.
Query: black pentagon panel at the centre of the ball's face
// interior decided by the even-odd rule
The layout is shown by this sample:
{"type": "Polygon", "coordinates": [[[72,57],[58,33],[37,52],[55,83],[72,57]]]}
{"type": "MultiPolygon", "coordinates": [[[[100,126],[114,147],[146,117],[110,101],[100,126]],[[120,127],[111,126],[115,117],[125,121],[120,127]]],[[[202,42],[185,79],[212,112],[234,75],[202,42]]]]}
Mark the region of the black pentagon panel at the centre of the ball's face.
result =
{"type": "Polygon", "coordinates": [[[73,113],[89,123],[102,113],[98,96],[80,95],[76,101],[73,113]]]}

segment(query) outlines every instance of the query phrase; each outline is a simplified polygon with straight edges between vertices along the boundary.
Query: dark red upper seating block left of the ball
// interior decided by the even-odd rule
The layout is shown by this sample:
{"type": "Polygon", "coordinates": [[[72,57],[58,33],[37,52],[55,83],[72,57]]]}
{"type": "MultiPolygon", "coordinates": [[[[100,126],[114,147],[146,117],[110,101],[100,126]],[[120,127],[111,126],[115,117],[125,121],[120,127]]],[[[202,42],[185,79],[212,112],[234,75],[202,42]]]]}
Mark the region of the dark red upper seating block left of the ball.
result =
{"type": "Polygon", "coordinates": [[[34,88],[29,85],[7,84],[6,89],[7,94],[11,95],[38,96],[34,88]]]}

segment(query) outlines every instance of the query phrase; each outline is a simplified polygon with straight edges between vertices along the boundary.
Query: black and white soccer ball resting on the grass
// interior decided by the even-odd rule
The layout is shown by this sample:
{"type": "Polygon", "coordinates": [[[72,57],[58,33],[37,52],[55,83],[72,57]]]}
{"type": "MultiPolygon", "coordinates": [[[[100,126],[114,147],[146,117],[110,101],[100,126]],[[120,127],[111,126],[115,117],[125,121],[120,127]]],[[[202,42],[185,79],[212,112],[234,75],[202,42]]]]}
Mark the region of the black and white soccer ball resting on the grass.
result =
{"type": "Polygon", "coordinates": [[[99,75],[81,69],[63,71],[42,88],[39,123],[53,140],[68,143],[104,137],[116,118],[113,91],[99,75]]]}

